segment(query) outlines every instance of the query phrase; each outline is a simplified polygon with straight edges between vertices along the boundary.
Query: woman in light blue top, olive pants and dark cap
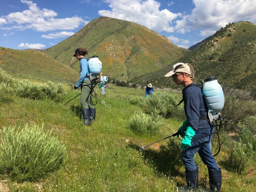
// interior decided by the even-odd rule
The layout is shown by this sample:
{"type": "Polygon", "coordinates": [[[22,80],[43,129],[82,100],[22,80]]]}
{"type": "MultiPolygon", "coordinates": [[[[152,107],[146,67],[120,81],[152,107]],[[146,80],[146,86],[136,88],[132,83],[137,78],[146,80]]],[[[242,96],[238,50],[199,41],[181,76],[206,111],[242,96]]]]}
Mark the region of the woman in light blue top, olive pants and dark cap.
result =
{"type": "Polygon", "coordinates": [[[80,104],[82,106],[82,113],[84,117],[84,125],[90,125],[91,119],[95,119],[96,109],[93,104],[90,102],[90,96],[92,94],[91,88],[92,85],[90,83],[90,70],[88,67],[88,59],[84,56],[87,55],[88,50],[84,48],[78,48],[73,55],[77,59],[80,60],[80,77],[78,82],[76,83],[74,89],[81,87],[81,96],[80,96],[80,104]]]}

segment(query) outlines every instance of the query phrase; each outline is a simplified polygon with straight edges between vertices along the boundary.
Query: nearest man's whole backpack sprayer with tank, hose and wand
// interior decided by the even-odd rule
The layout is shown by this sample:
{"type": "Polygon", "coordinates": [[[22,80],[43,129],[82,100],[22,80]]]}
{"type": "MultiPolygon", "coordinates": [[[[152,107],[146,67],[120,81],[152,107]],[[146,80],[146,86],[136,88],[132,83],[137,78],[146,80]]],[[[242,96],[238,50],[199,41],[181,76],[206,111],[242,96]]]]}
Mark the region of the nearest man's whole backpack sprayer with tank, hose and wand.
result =
{"type": "MultiPolygon", "coordinates": [[[[204,135],[202,137],[198,137],[198,138],[196,138],[192,141],[201,139],[203,137],[207,137],[207,136],[212,135],[212,134],[217,134],[218,135],[218,141],[219,141],[219,149],[218,149],[218,152],[215,155],[213,155],[213,156],[216,156],[219,153],[220,149],[221,149],[221,143],[220,143],[220,138],[219,138],[218,133],[221,131],[222,125],[226,125],[228,123],[227,119],[224,119],[224,117],[220,113],[220,111],[224,107],[225,99],[224,99],[224,93],[223,93],[223,90],[221,88],[221,85],[218,83],[217,78],[215,76],[209,77],[209,78],[205,79],[204,81],[202,79],[200,79],[201,86],[202,86],[201,89],[202,89],[203,96],[204,96],[204,99],[205,99],[205,102],[206,102],[207,108],[208,108],[208,114],[207,114],[207,117],[204,117],[204,116],[201,116],[201,115],[200,115],[200,117],[201,117],[201,119],[207,120],[212,126],[215,126],[216,131],[213,132],[213,133],[204,135]],[[204,83],[204,81],[205,81],[205,83],[204,83]],[[217,121],[219,121],[219,123],[217,121]]],[[[199,85],[197,85],[197,84],[191,84],[190,86],[198,86],[199,87],[199,85]]],[[[178,105],[180,105],[182,102],[183,102],[183,99],[179,102],[178,105]]],[[[176,105],[175,108],[177,108],[178,105],[176,105]]],[[[172,134],[168,137],[165,137],[163,139],[160,139],[160,140],[157,140],[153,143],[145,145],[145,146],[141,147],[139,149],[139,151],[141,152],[141,151],[143,151],[143,149],[145,147],[147,147],[149,145],[152,145],[152,144],[157,143],[161,140],[165,140],[169,137],[174,137],[174,136],[177,136],[177,135],[180,135],[179,131],[177,131],[175,134],[172,134]]]]}

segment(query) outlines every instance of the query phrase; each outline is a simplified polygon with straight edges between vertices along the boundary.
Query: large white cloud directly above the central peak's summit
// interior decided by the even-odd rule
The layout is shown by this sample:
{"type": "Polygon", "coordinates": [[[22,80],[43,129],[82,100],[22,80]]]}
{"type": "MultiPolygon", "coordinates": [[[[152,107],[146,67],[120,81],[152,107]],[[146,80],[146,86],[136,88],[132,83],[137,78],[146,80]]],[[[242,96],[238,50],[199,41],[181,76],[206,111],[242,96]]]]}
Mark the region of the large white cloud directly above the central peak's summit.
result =
{"type": "Polygon", "coordinates": [[[139,23],[157,32],[173,32],[172,21],[181,13],[160,10],[156,0],[106,0],[110,11],[100,10],[99,15],[139,23]]]}

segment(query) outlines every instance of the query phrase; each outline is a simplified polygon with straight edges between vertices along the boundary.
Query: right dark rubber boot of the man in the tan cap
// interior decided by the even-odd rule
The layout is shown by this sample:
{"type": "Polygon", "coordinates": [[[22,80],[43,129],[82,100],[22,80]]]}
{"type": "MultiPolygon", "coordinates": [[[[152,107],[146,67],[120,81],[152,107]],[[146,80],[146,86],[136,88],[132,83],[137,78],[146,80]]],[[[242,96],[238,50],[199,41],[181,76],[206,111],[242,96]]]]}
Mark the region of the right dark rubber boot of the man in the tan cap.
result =
{"type": "Polygon", "coordinates": [[[215,169],[209,169],[209,183],[210,183],[210,189],[213,191],[220,192],[221,191],[221,169],[215,170],[215,169]]]}

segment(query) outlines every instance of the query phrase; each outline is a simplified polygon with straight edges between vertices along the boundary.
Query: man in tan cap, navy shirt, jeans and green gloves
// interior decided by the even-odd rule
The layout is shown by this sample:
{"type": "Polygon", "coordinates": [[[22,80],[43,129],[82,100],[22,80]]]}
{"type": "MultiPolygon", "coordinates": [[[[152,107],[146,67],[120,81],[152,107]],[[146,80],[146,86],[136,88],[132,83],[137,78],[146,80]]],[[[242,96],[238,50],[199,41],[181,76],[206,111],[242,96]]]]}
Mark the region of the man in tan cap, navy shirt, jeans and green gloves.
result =
{"type": "Polygon", "coordinates": [[[194,77],[194,69],[188,63],[177,63],[173,66],[172,71],[165,76],[171,76],[177,85],[181,84],[184,87],[182,94],[186,120],[178,131],[180,131],[180,136],[183,138],[181,141],[181,147],[183,148],[181,159],[186,170],[187,186],[177,187],[177,191],[189,191],[191,189],[196,191],[198,187],[198,167],[195,165],[194,155],[198,152],[201,160],[208,168],[210,190],[220,192],[221,169],[219,169],[212,155],[212,135],[194,140],[214,131],[214,127],[207,120],[208,108],[201,87],[198,87],[191,80],[194,77]]]}

